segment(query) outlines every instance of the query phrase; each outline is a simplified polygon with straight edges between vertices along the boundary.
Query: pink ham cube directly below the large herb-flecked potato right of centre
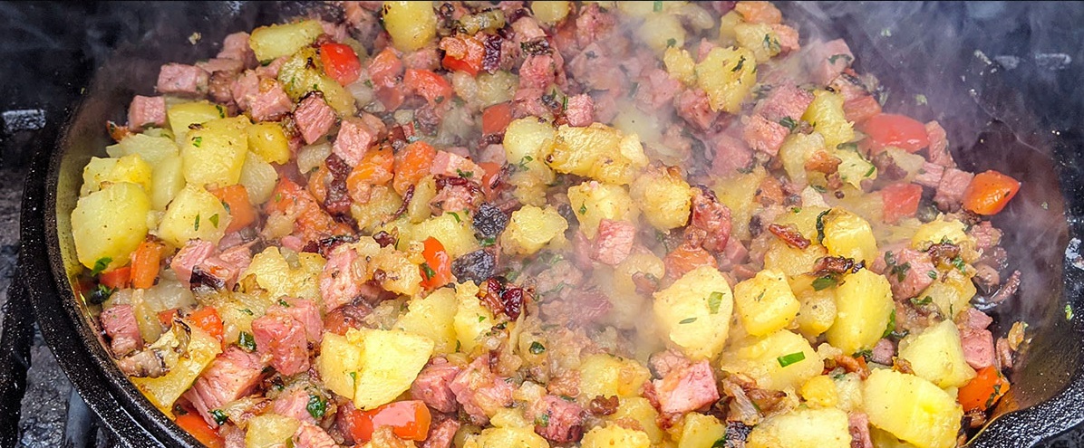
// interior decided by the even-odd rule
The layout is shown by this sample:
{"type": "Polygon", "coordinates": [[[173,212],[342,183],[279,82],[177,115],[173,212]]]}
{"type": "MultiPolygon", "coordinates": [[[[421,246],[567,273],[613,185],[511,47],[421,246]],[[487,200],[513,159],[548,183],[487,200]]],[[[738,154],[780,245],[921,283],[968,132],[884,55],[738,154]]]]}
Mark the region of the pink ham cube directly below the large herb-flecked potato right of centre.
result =
{"type": "Polygon", "coordinates": [[[653,380],[651,385],[659,410],[667,413],[684,413],[719,400],[715,374],[707,360],[673,370],[661,380],[653,380]]]}

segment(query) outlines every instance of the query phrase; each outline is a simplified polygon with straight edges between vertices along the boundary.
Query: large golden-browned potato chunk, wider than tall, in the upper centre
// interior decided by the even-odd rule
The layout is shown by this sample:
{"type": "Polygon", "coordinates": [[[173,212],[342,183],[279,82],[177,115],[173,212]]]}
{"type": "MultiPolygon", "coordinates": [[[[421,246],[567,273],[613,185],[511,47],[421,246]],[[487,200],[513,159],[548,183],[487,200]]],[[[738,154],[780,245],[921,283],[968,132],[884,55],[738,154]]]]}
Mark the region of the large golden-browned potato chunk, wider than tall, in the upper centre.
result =
{"type": "Polygon", "coordinates": [[[635,134],[623,135],[603,123],[586,128],[562,124],[546,162],[557,172],[628,185],[647,167],[647,156],[635,134]]]}

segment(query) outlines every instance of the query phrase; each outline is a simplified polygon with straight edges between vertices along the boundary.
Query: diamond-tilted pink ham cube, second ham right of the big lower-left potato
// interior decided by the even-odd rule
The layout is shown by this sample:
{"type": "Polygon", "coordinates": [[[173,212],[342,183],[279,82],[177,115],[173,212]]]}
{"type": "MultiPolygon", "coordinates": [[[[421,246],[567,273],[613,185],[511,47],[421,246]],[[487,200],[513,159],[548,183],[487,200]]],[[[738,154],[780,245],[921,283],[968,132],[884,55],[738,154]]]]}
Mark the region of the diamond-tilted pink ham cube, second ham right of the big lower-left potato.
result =
{"type": "Polygon", "coordinates": [[[489,357],[476,358],[449,384],[455,400],[478,424],[489,422],[489,416],[512,404],[514,387],[489,368],[489,357]]]}

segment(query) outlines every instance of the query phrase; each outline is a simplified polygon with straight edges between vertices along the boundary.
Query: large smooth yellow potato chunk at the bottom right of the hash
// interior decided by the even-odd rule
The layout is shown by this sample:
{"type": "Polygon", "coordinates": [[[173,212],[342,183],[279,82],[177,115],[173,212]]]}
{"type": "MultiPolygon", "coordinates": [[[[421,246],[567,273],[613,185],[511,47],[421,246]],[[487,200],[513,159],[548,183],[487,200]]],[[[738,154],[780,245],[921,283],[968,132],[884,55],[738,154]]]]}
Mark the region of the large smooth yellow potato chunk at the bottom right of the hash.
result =
{"type": "Polygon", "coordinates": [[[870,424],[919,448],[956,446],[963,408],[933,383],[881,369],[869,373],[862,390],[870,424]]]}

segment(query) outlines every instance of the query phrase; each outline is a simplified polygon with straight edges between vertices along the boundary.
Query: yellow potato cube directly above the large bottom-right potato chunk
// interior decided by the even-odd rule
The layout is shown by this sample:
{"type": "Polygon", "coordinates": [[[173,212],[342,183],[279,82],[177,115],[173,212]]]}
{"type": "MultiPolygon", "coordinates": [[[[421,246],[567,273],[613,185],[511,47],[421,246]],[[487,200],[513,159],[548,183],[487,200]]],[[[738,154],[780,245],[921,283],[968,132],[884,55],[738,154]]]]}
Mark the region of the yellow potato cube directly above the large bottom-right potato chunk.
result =
{"type": "Polygon", "coordinates": [[[952,320],[908,334],[900,341],[900,357],[911,363],[916,375],[941,388],[959,387],[975,378],[975,369],[964,359],[959,331],[952,320]]]}

